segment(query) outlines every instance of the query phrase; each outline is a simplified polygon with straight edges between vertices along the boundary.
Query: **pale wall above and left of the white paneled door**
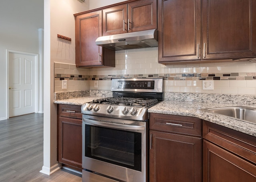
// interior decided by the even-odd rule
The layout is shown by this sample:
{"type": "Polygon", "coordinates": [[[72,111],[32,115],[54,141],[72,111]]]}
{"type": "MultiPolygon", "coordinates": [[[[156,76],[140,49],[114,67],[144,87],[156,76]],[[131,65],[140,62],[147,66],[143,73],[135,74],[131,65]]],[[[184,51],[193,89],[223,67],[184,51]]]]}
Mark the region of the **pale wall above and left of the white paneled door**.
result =
{"type": "Polygon", "coordinates": [[[6,49],[39,53],[38,28],[44,27],[44,0],[1,0],[0,3],[0,120],[7,118],[6,49]],[[6,79],[4,79],[6,78],[6,79]]]}

